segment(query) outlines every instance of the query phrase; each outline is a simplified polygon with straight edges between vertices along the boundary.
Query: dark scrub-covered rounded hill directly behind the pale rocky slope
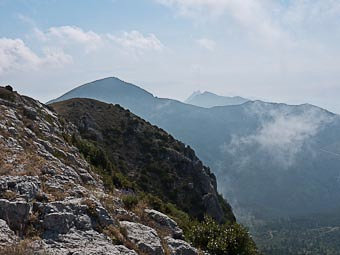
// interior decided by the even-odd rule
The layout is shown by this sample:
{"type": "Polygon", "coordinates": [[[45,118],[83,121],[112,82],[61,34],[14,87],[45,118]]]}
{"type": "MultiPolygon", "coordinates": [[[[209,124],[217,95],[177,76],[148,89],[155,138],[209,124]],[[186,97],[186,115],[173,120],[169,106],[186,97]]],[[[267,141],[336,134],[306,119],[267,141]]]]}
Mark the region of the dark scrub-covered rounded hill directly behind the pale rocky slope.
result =
{"type": "Polygon", "coordinates": [[[119,105],[72,99],[51,106],[78,127],[85,140],[75,142],[108,185],[155,194],[198,219],[235,221],[215,176],[189,146],[119,105]]]}

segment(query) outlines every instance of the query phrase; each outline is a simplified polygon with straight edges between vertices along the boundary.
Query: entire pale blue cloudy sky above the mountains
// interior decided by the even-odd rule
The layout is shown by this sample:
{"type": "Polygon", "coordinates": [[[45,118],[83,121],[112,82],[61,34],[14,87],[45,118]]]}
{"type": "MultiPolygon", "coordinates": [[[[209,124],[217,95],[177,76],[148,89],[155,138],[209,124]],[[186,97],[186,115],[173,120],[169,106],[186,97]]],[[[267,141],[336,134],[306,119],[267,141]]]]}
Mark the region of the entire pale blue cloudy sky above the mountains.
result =
{"type": "Polygon", "coordinates": [[[340,113],[340,0],[0,0],[0,84],[47,101],[107,76],[340,113]]]}

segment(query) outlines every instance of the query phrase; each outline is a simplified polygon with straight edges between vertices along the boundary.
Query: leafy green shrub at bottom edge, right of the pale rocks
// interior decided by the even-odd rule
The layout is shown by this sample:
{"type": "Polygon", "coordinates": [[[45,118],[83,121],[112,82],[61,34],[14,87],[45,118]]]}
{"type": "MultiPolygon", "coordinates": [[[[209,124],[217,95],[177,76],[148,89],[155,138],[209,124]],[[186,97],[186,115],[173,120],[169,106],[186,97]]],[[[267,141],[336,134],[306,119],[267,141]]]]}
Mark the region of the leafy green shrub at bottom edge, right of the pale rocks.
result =
{"type": "Polygon", "coordinates": [[[258,250],[248,231],[237,223],[219,225],[212,218],[193,223],[186,238],[211,255],[257,255],[258,250]]]}

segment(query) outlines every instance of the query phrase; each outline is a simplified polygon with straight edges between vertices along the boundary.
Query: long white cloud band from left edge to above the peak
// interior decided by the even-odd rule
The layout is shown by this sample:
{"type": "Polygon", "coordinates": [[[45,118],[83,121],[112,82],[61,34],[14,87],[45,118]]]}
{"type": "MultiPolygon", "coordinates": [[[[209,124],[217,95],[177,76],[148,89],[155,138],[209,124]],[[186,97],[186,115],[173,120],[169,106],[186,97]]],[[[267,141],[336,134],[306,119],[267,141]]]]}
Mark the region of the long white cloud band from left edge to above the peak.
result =
{"type": "Polygon", "coordinates": [[[143,35],[138,31],[99,34],[76,26],[50,27],[43,31],[33,25],[33,34],[28,34],[26,40],[39,51],[30,48],[22,39],[0,38],[2,75],[13,74],[13,71],[63,67],[74,59],[86,59],[88,53],[95,53],[92,56],[97,59],[105,56],[101,62],[106,61],[108,55],[114,56],[114,59],[136,61],[140,60],[141,54],[164,49],[154,34],[143,35]]]}

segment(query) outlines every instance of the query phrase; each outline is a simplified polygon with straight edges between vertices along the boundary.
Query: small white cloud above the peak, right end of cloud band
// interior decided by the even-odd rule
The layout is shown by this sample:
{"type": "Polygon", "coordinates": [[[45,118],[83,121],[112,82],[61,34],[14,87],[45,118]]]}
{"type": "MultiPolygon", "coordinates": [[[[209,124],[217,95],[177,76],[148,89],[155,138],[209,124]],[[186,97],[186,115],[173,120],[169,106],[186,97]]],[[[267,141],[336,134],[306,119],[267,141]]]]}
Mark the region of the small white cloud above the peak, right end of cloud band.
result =
{"type": "Polygon", "coordinates": [[[164,48],[162,42],[154,34],[143,35],[134,30],[131,32],[123,32],[120,36],[112,34],[108,34],[107,36],[120,46],[134,51],[161,51],[164,48]]]}

